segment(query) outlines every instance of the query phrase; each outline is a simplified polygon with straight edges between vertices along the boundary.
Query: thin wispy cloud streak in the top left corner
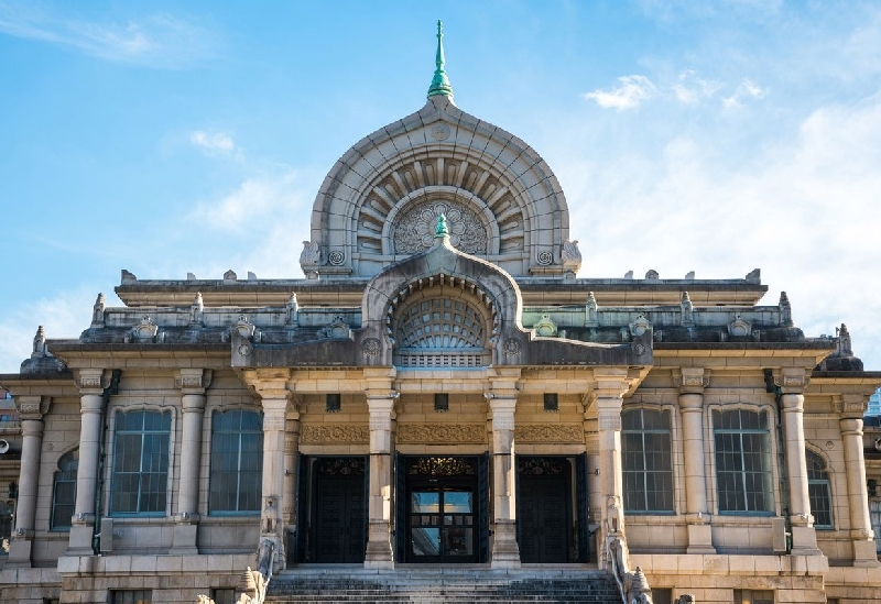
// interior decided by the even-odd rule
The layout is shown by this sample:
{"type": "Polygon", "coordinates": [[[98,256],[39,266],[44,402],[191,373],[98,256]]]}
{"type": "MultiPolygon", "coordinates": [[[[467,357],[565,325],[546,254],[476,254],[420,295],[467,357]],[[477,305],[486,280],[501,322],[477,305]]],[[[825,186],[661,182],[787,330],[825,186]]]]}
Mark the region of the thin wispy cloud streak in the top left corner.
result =
{"type": "Polygon", "coordinates": [[[0,2],[0,32],[77,50],[116,63],[180,69],[214,53],[215,34],[171,14],[126,23],[50,13],[37,6],[0,2]]]}

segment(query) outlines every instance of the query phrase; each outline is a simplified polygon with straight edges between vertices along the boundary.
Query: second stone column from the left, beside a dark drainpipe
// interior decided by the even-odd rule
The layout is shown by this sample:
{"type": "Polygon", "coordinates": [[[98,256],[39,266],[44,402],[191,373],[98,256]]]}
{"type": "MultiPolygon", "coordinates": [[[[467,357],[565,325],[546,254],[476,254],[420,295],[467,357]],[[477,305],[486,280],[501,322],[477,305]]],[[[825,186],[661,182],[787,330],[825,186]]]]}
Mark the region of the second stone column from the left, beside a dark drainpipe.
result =
{"type": "Polygon", "coordinates": [[[76,504],[66,556],[93,556],[95,494],[98,487],[98,461],[101,454],[104,420],[102,370],[79,370],[79,465],[76,473],[76,504]]]}

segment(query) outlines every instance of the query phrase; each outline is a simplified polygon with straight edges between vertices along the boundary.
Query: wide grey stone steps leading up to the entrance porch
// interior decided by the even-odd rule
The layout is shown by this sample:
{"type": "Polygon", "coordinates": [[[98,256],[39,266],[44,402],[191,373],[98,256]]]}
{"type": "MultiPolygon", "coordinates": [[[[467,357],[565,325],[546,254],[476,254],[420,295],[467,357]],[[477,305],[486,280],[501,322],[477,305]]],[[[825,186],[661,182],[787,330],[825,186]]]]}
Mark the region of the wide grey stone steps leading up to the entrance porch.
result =
{"type": "Polygon", "coordinates": [[[597,570],[453,571],[370,573],[283,571],[272,578],[265,602],[409,602],[621,604],[612,576],[597,570]]]}

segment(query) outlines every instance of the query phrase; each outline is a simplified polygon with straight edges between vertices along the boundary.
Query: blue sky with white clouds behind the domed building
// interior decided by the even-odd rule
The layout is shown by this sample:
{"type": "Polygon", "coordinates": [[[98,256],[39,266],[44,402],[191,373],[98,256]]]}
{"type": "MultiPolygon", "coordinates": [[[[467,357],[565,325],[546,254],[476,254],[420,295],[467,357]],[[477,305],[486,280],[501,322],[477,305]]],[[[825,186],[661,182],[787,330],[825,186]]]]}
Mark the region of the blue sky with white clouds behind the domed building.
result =
{"type": "Polygon", "coordinates": [[[324,175],[457,105],[559,178],[579,276],[742,277],[881,370],[881,4],[0,0],[0,373],[120,270],[300,277],[324,175]]]}

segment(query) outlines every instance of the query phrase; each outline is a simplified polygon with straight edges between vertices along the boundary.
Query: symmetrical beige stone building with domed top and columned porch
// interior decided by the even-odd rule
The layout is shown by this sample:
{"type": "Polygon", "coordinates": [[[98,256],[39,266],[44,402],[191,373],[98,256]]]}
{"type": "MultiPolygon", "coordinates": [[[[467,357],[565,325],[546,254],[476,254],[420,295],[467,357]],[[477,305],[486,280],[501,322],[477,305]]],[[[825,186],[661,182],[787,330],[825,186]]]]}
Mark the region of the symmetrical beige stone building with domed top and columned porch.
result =
{"type": "Polygon", "coordinates": [[[881,373],[846,327],[805,336],[758,270],[576,276],[554,173],[456,107],[439,42],[425,106],[325,178],[301,265],[123,271],[123,307],[41,328],[0,375],[23,435],[0,600],[230,601],[265,547],[276,573],[623,562],[655,602],[881,601],[881,373]]]}

